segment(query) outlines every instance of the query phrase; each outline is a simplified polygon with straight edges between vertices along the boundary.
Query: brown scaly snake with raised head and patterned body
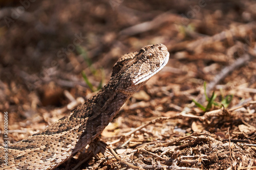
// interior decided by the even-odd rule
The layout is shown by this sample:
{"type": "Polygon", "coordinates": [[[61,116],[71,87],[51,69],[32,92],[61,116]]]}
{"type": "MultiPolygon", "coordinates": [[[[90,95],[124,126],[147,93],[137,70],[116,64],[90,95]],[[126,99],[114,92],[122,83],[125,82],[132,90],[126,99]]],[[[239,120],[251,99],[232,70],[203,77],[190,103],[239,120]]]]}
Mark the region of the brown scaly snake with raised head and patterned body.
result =
{"type": "Polygon", "coordinates": [[[1,169],[54,169],[90,144],[112,121],[124,102],[168,62],[163,44],[145,45],[123,55],[111,79],[96,95],[28,138],[0,148],[1,169]],[[5,161],[8,154],[8,161],[5,161]]]}

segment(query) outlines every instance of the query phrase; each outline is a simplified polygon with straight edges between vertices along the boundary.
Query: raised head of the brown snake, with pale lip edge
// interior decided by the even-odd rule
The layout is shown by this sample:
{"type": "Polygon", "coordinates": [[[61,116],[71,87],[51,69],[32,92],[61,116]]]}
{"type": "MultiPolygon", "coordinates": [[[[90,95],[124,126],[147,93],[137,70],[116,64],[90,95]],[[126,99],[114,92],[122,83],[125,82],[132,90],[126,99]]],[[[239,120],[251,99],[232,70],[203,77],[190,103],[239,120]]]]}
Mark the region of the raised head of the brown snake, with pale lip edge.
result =
{"type": "Polygon", "coordinates": [[[136,92],[168,62],[164,44],[145,45],[139,52],[123,55],[113,67],[111,83],[126,94],[136,92]]]}

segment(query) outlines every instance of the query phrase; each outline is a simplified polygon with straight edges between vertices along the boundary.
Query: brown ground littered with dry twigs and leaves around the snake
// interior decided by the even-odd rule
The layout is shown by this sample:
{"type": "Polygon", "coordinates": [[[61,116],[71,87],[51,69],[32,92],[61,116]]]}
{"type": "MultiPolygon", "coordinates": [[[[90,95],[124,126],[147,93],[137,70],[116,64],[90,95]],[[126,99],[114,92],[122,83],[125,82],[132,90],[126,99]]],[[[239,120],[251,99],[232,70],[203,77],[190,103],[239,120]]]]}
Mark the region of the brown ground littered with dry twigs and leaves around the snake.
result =
{"type": "Polygon", "coordinates": [[[8,115],[9,144],[88,100],[121,55],[163,43],[168,64],[90,149],[57,169],[256,169],[255,1],[0,6],[0,123],[8,115]]]}

